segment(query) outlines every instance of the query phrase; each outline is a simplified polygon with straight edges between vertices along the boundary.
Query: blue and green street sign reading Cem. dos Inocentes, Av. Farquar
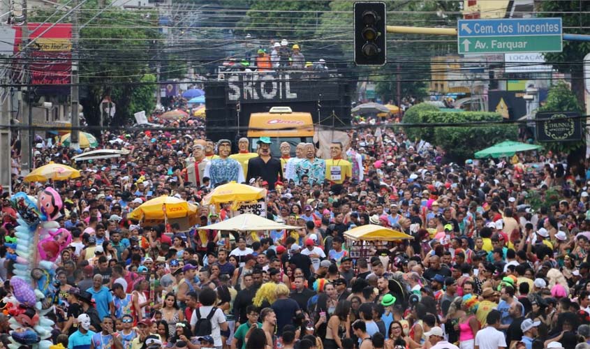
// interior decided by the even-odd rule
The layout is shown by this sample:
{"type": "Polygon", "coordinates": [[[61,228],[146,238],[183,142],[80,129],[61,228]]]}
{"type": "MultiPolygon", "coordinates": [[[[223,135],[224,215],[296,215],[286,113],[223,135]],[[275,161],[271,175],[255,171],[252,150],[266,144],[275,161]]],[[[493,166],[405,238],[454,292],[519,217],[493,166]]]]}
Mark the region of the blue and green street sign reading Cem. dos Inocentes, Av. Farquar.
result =
{"type": "Polygon", "coordinates": [[[561,18],[459,20],[459,54],[561,52],[561,18]]]}

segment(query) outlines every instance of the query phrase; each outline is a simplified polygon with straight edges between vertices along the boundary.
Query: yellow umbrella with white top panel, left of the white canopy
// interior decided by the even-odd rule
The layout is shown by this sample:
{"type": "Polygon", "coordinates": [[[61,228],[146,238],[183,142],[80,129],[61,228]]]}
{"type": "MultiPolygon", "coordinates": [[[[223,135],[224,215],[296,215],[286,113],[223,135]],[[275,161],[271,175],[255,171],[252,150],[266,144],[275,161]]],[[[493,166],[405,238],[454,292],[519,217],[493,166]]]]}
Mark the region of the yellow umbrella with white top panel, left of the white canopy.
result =
{"type": "Polygon", "coordinates": [[[184,218],[187,216],[195,216],[197,214],[197,207],[185,200],[175,198],[173,196],[162,195],[159,198],[148,200],[139,207],[136,207],[129,218],[136,220],[163,220],[164,209],[166,211],[166,218],[184,218]]]}

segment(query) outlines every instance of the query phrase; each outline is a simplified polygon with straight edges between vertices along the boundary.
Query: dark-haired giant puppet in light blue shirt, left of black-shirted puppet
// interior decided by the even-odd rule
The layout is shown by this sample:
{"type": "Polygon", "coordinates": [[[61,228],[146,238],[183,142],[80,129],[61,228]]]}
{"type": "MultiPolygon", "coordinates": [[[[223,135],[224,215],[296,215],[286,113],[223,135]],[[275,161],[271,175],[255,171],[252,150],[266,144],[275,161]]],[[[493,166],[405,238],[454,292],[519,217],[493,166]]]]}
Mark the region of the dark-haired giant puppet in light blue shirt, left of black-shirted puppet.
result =
{"type": "Polygon", "coordinates": [[[217,143],[219,158],[214,158],[207,163],[204,174],[205,177],[211,179],[209,182],[211,188],[230,181],[236,181],[237,183],[244,182],[242,165],[233,158],[229,158],[231,149],[232,142],[230,140],[219,140],[217,143]]]}

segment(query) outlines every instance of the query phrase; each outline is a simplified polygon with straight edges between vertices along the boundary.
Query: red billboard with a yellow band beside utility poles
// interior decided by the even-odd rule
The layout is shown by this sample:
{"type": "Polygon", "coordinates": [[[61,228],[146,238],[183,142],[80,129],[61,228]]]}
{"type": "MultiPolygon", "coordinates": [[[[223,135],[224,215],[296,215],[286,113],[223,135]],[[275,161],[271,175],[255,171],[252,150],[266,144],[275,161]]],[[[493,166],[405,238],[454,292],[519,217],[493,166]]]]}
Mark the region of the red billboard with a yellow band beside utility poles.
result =
{"type": "MultiPolygon", "coordinates": [[[[72,24],[69,23],[29,23],[29,40],[27,47],[30,60],[16,61],[19,66],[28,64],[31,84],[60,85],[71,82],[72,73],[72,24]],[[53,27],[52,27],[53,26],[53,27]]],[[[22,27],[15,29],[14,53],[17,54],[26,45],[22,40],[22,27]]],[[[17,68],[20,71],[21,68],[17,68]]]]}

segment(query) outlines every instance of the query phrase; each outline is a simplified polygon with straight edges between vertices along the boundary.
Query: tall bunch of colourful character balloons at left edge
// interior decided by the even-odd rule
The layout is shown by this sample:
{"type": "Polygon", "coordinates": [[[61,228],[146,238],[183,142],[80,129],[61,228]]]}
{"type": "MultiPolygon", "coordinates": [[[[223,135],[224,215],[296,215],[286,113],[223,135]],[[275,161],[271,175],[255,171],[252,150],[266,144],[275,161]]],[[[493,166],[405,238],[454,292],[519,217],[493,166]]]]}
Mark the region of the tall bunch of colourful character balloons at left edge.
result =
{"type": "Polygon", "coordinates": [[[10,349],[31,346],[50,349],[54,322],[45,314],[53,309],[54,264],[70,244],[71,233],[59,228],[61,197],[54,188],[43,188],[34,198],[16,193],[11,202],[17,211],[15,238],[6,237],[6,259],[14,261],[10,279],[12,295],[2,300],[4,313],[10,315],[10,349]]]}

